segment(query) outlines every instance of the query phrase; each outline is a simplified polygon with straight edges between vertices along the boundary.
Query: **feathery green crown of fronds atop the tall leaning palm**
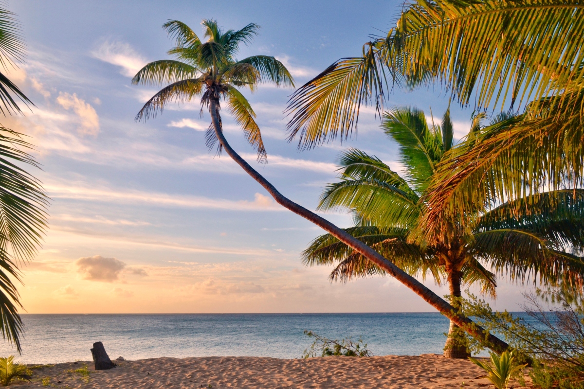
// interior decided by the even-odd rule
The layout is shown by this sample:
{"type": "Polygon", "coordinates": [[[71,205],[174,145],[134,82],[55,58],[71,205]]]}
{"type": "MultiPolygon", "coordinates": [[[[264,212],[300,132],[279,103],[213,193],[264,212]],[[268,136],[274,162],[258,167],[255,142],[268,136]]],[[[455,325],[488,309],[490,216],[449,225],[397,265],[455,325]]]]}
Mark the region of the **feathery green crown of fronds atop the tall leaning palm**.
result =
{"type": "MultiPolygon", "coordinates": [[[[258,161],[265,162],[266,149],[255,122],[256,115],[238,87],[248,87],[252,92],[259,83],[265,82],[293,87],[293,78],[286,66],[274,57],[235,58],[239,45],[251,43],[258,34],[260,27],[257,24],[250,23],[237,31],[223,31],[215,20],[203,20],[201,24],[205,29],[204,36],[208,38],[206,42],[202,42],[185,23],[171,20],[164,24],[176,44],[168,54],[178,60],[150,62],[134,76],[134,84],[169,84],[144,104],[136,120],[154,117],[171,102],[190,101],[200,96],[201,103],[208,104],[212,97],[223,97],[249,144],[258,152],[258,161]]],[[[217,143],[213,125],[207,130],[206,140],[209,148],[217,143]]]]}

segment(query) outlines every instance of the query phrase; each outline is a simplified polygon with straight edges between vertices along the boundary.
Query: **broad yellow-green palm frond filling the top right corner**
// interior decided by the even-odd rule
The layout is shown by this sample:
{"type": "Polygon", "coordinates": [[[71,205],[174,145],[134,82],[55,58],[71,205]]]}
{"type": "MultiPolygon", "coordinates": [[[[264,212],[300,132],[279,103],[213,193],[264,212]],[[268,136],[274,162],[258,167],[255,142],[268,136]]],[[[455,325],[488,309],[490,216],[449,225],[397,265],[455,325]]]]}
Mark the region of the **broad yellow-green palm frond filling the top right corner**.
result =
{"type": "Polygon", "coordinates": [[[385,40],[385,59],[408,78],[422,80],[429,73],[463,104],[474,90],[483,107],[539,100],[584,76],[582,5],[580,0],[411,3],[385,40]]]}

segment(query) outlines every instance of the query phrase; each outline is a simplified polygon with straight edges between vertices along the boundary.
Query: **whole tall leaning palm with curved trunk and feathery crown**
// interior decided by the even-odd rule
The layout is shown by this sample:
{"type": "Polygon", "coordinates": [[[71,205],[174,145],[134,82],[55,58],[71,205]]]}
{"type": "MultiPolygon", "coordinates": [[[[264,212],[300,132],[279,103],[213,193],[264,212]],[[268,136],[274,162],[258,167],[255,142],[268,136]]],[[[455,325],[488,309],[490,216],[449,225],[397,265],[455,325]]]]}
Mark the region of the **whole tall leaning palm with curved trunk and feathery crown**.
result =
{"type": "MultiPolygon", "coordinates": [[[[225,139],[221,125],[221,100],[225,101],[230,113],[246,134],[248,142],[258,152],[259,162],[265,162],[266,151],[260,129],[255,122],[255,113],[248,100],[237,88],[249,87],[253,92],[262,82],[273,82],[277,86],[293,86],[293,80],[284,65],[273,57],[257,55],[239,60],[236,58],[239,45],[250,43],[253,36],[257,34],[259,26],[256,24],[248,24],[237,31],[223,31],[214,20],[203,20],[202,24],[205,37],[207,37],[205,42],[201,41],[185,23],[171,20],[164,24],[164,28],[176,41],[176,47],[169,50],[169,54],[175,55],[177,59],[151,62],[134,76],[133,83],[166,85],[144,104],[136,120],[154,117],[171,102],[190,101],[195,97],[200,97],[201,104],[208,107],[211,116],[211,125],[206,136],[208,146],[213,147],[218,141],[218,152],[225,150],[246,173],[272,195],[278,204],[331,233],[404,283],[455,323],[464,326],[471,334],[484,338],[482,328],[472,325],[474,323],[470,319],[456,313],[453,306],[387,258],[328,220],[280,194],[269,181],[231,148],[225,139]]],[[[507,344],[500,339],[490,334],[488,337],[494,349],[507,348],[507,344]]]]}

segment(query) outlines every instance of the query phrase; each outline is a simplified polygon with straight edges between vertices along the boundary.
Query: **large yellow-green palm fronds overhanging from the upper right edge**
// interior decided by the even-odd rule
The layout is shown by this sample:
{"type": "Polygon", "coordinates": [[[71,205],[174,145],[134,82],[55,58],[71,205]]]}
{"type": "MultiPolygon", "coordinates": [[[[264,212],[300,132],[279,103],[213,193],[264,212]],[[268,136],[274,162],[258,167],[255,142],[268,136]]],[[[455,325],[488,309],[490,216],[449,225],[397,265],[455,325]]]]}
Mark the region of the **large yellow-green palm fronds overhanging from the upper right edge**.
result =
{"type": "Polygon", "coordinates": [[[541,188],[580,188],[583,46],[582,0],[408,3],[397,26],[366,43],[361,57],[340,59],[294,93],[290,140],[311,148],[349,136],[361,104],[381,112],[387,82],[440,82],[461,106],[475,96],[477,110],[524,111],[484,128],[479,147],[461,146],[443,160],[420,230],[439,231],[452,215],[541,188]]]}

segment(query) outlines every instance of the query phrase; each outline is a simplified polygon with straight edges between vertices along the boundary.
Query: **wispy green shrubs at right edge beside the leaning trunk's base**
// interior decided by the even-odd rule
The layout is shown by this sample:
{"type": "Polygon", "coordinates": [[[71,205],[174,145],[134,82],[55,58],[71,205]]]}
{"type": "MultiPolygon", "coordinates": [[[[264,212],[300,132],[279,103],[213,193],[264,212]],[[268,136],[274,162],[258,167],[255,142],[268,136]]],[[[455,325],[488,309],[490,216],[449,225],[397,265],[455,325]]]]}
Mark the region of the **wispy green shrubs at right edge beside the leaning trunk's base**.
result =
{"type": "MultiPolygon", "coordinates": [[[[570,288],[557,286],[526,293],[527,317],[493,311],[470,295],[465,313],[490,332],[503,335],[518,359],[529,362],[534,386],[544,389],[584,388],[584,299],[570,288]]],[[[477,342],[477,339],[469,339],[477,342]]]]}

